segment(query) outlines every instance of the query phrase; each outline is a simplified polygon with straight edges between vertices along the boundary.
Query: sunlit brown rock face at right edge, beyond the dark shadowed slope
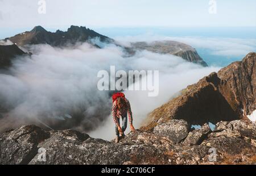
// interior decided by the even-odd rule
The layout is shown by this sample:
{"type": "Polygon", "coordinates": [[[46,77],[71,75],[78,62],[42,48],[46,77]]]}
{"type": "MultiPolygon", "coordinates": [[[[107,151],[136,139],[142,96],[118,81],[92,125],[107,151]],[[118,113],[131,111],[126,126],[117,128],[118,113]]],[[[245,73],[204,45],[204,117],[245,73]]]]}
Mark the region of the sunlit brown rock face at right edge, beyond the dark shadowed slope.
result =
{"type": "Polygon", "coordinates": [[[221,69],[218,77],[223,80],[219,90],[233,110],[240,117],[250,115],[256,109],[256,53],[221,69]]]}

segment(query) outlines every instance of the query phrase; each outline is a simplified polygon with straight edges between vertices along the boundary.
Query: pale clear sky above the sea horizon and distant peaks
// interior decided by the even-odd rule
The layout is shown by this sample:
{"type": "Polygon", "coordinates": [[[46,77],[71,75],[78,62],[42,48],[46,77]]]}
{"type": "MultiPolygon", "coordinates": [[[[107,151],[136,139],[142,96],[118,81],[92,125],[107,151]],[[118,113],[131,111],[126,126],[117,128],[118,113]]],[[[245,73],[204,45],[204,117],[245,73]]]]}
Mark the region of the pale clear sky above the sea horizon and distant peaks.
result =
{"type": "Polygon", "coordinates": [[[256,26],[255,7],[255,0],[0,0],[0,27],[245,27],[256,26]]]}

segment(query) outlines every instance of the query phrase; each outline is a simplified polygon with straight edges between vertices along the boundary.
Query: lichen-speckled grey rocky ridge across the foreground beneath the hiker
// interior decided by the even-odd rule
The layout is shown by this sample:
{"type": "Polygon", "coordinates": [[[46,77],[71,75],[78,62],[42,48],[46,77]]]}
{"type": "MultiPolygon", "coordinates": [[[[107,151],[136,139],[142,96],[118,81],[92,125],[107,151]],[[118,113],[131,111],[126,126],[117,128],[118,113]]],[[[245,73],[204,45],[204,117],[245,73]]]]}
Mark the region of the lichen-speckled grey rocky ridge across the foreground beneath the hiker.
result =
{"type": "Polygon", "coordinates": [[[256,164],[256,125],[220,121],[214,131],[205,124],[189,132],[186,121],[170,120],[160,133],[138,130],[118,144],[27,125],[0,135],[0,152],[0,164],[256,164]]]}

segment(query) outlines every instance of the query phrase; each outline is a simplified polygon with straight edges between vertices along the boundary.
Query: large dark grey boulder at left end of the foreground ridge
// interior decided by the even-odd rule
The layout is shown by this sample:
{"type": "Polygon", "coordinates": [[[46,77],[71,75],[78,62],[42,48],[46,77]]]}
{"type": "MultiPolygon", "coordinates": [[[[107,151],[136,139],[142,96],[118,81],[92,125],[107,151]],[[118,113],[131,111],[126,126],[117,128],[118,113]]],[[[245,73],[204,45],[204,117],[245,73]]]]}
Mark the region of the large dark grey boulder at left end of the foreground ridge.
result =
{"type": "Polygon", "coordinates": [[[27,125],[0,135],[0,164],[28,164],[38,153],[38,144],[49,133],[35,125],[27,125]]]}

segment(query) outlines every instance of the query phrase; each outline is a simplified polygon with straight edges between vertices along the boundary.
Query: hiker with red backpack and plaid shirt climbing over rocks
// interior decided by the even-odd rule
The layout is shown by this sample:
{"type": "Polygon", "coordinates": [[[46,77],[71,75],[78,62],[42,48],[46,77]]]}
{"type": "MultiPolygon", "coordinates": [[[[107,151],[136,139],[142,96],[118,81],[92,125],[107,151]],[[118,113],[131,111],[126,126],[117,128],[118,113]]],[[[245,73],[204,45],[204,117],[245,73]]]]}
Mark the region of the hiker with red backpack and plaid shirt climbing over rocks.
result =
{"type": "Polygon", "coordinates": [[[130,129],[135,132],[133,127],[133,114],[131,112],[131,106],[129,100],[125,98],[125,94],[116,93],[112,96],[113,107],[112,107],[112,117],[115,123],[115,143],[119,142],[119,135],[125,137],[125,130],[127,128],[127,116],[129,118],[130,129]],[[122,127],[120,126],[120,118],[122,118],[122,127]]]}

